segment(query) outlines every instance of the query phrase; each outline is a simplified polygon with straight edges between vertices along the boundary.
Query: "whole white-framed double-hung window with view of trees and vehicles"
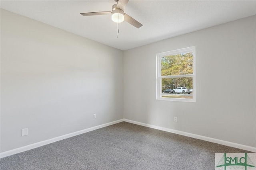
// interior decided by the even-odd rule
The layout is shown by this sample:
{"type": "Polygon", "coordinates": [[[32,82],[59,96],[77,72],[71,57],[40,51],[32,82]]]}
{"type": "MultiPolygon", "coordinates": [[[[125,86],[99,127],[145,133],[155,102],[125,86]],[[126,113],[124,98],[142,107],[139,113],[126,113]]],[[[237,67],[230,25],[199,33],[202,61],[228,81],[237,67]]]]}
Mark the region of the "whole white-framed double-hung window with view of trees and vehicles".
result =
{"type": "Polygon", "coordinates": [[[158,100],[196,102],[196,47],[158,53],[158,100]]]}

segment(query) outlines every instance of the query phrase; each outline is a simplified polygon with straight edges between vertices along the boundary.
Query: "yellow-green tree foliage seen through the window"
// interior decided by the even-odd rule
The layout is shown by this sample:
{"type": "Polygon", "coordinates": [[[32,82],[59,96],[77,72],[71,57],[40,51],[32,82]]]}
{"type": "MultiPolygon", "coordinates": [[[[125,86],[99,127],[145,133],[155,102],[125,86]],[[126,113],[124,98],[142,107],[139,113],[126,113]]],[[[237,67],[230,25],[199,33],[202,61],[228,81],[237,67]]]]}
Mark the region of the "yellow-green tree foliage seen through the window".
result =
{"type": "MultiPolygon", "coordinates": [[[[161,58],[161,75],[177,76],[193,74],[193,53],[170,55],[161,58]]],[[[162,88],[185,86],[193,88],[192,77],[162,78],[162,88]]]]}

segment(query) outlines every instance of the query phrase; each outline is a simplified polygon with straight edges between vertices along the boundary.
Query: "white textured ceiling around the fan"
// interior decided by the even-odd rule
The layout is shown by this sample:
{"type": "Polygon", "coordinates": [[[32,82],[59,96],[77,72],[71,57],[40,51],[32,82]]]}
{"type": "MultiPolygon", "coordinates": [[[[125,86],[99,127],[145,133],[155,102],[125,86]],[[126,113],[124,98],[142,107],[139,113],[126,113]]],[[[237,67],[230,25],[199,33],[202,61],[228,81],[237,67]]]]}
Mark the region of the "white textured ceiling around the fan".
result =
{"type": "Polygon", "coordinates": [[[125,13],[143,24],[117,24],[111,15],[82,16],[83,12],[111,11],[114,0],[1,0],[0,7],[127,50],[256,14],[255,0],[130,0],[125,13]]]}

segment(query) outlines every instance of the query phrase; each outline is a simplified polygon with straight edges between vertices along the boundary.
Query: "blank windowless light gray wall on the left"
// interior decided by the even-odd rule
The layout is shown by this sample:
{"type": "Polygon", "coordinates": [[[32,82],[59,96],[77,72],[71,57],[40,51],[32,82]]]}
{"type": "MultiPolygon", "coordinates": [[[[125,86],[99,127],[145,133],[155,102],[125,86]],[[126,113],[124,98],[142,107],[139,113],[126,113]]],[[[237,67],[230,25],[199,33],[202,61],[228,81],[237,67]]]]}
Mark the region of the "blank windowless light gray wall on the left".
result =
{"type": "Polygon", "coordinates": [[[0,152],[123,119],[123,51],[1,10],[1,106],[0,152]]]}

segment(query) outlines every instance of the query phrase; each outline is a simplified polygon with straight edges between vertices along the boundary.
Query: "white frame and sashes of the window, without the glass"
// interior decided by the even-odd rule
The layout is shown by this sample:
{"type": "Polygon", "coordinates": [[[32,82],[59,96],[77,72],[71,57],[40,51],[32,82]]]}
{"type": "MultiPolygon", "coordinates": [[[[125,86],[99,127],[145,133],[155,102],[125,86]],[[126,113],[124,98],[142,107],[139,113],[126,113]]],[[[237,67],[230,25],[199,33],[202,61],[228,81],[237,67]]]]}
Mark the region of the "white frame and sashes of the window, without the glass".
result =
{"type": "Polygon", "coordinates": [[[156,54],[156,99],[168,100],[168,101],[180,101],[180,102],[196,102],[196,47],[195,46],[156,54]],[[193,74],[177,75],[177,76],[161,76],[161,57],[166,57],[169,55],[178,55],[181,53],[189,53],[189,52],[193,52],[193,74]],[[162,97],[162,78],[178,78],[178,77],[193,78],[193,92],[192,92],[193,98],[192,99],[162,97]]]}

